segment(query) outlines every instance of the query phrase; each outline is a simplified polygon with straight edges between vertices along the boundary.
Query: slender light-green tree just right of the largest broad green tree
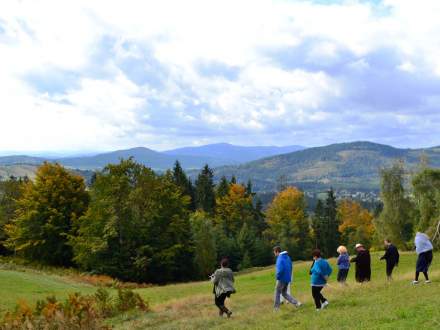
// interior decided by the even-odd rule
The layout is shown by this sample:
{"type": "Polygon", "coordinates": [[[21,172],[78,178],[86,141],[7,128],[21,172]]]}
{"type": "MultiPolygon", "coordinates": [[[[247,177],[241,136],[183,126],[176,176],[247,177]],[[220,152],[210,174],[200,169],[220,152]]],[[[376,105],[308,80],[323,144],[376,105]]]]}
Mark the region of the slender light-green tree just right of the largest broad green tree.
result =
{"type": "Polygon", "coordinates": [[[217,262],[214,226],[212,220],[203,211],[191,216],[191,228],[194,240],[194,261],[202,279],[212,274],[217,262]]]}

